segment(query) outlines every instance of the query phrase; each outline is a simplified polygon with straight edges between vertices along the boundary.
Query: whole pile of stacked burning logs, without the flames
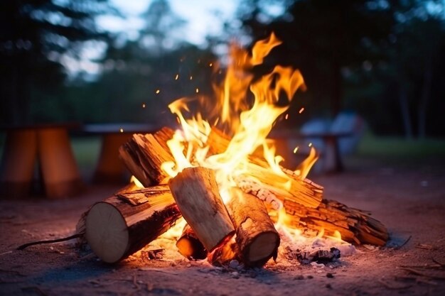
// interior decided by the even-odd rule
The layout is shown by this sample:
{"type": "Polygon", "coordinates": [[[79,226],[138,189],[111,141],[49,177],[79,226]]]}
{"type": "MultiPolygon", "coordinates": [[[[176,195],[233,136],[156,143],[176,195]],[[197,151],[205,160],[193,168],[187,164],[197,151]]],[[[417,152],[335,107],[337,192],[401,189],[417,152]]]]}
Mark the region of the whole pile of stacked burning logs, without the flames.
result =
{"type": "MultiPolygon", "coordinates": [[[[262,266],[277,256],[280,237],[274,228],[274,210],[284,206],[291,224],[303,233],[341,233],[353,243],[382,246],[387,229],[369,214],[323,199],[323,187],[283,169],[287,177],[269,169],[267,162],[250,156],[248,170],[237,178],[227,204],[220,197],[213,170],[186,168],[176,177],[161,169],[173,161],[166,141],[171,128],[134,134],[119,149],[120,158],[144,188],[128,186],[98,202],[82,216],[80,231],[102,261],[115,263],[138,251],[167,231],[183,216],[187,225],[178,239],[178,251],[188,258],[224,263],[237,258],[247,266],[262,266]],[[289,181],[290,180],[290,181],[289,181]],[[289,181],[289,190],[277,182],[289,181]]],[[[209,153],[222,153],[229,139],[213,128],[209,153]]]]}

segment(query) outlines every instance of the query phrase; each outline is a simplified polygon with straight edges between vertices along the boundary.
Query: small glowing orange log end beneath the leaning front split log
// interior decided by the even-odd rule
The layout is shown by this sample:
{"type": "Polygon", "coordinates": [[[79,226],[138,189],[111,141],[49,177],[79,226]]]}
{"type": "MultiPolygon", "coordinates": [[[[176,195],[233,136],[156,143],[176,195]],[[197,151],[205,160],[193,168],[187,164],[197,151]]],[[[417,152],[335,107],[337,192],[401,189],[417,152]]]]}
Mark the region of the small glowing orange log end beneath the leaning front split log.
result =
{"type": "Polygon", "coordinates": [[[207,250],[205,250],[203,243],[200,242],[198,236],[196,236],[188,224],[184,226],[181,237],[176,241],[176,247],[179,253],[188,259],[207,258],[207,250]]]}

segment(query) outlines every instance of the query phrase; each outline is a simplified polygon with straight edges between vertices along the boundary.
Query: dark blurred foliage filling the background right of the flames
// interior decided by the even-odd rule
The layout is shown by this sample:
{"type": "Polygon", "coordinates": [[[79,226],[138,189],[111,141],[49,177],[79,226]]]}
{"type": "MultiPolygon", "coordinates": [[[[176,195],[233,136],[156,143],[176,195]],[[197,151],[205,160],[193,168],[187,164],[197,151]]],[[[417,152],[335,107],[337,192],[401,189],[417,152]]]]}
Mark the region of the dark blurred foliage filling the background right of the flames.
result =
{"type": "MultiPolygon", "coordinates": [[[[309,90],[295,104],[306,106],[311,116],[353,109],[378,133],[409,136],[417,124],[419,136],[427,128],[430,134],[444,134],[444,128],[431,125],[443,121],[431,106],[444,105],[439,101],[444,96],[439,87],[445,78],[444,55],[439,54],[444,51],[444,16],[427,9],[442,5],[443,13],[440,1],[243,3],[250,8],[240,13],[247,33],[257,39],[274,31],[283,40],[272,51],[271,64],[301,69],[309,90]],[[274,3],[282,3],[284,13],[265,17],[264,6],[274,3]]],[[[289,124],[308,119],[298,117],[289,124]]]]}

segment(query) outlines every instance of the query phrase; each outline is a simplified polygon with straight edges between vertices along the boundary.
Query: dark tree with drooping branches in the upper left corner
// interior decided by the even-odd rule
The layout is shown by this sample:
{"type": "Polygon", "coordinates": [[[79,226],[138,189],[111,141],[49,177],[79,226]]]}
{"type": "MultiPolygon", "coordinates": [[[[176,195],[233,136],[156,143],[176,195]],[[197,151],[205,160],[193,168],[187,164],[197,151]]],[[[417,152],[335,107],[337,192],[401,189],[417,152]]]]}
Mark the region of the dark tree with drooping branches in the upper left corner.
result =
{"type": "Polygon", "coordinates": [[[1,1],[1,122],[32,121],[31,99],[57,94],[66,58],[78,59],[87,40],[107,40],[95,16],[110,11],[107,0],[1,1]]]}

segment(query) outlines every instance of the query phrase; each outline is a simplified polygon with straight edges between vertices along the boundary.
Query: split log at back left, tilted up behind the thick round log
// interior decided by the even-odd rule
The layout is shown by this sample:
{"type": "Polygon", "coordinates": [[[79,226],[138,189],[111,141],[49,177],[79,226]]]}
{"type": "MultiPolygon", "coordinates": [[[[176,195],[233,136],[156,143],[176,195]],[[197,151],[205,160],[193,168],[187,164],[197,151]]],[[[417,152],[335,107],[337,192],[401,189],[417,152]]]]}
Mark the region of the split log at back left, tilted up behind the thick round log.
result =
{"type": "Polygon", "coordinates": [[[168,180],[161,165],[174,160],[166,145],[170,134],[173,136],[170,128],[161,128],[154,134],[135,133],[131,140],[119,148],[119,157],[144,187],[166,183],[168,180]]]}

